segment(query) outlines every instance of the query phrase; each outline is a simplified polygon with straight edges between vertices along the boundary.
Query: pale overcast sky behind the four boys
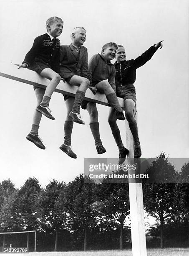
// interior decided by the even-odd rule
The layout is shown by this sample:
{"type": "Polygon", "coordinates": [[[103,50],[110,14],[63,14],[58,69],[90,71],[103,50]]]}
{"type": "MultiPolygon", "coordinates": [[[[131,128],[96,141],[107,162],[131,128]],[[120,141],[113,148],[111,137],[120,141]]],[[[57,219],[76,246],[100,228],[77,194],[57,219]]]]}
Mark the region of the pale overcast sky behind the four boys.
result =
{"type": "MultiPolygon", "coordinates": [[[[64,20],[61,44],[70,44],[73,27],[86,28],[88,59],[109,41],[125,46],[126,58],[135,59],[164,40],[163,48],[136,75],[142,157],[154,158],[164,151],[170,158],[187,158],[189,1],[0,0],[1,62],[21,63],[34,38],[46,33],[45,22],[51,16],[64,20]]],[[[78,158],[71,159],[59,149],[66,118],[63,96],[55,92],[50,102],[55,121],[42,118],[39,134],[46,149],[41,150],[25,139],[36,105],[33,87],[0,77],[0,88],[0,181],[10,178],[16,187],[29,177],[38,178],[43,187],[52,179],[69,182],[83,172],[84,158],[118,157],[107,122],[108,107],[97,106],[107,152],[97,154],[88,113],[81,110],[86,125],[74,124],[72,146],[78,158]]],[[[118,125],[126,145],[125,123],[118,125]]]]}

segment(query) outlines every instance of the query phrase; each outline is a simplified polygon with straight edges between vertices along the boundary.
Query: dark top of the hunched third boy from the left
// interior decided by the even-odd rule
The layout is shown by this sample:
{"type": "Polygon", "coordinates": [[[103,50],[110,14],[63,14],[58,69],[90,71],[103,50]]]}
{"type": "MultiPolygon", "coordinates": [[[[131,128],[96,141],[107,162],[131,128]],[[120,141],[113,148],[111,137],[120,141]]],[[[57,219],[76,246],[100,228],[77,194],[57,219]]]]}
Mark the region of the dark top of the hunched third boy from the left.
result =
{"type": "Polygon", "coordinates": [[[90,59],[87,73],[87,78],[90,81],[90,87],[108,79],[109,84],[116,92],[115,74],[116,70],[114,65],[110,61],[105,61],[103,55],[95,54],[90,59]]]}

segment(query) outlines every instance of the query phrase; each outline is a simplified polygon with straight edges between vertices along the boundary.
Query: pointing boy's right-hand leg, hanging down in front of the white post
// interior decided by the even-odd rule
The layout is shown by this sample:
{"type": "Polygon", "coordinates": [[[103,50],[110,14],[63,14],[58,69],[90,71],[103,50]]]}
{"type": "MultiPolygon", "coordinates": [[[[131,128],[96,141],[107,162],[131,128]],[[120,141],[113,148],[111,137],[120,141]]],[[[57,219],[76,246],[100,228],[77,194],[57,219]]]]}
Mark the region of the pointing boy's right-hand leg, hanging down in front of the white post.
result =
{"type": "Polygon", "coordinates": [[[141,146],[139,141],[139,133],[138,133],[138,126],[136,123],[136,119],[134,118],[134,106],[135,102],[131,99],[124,100],[125,104],[125,111],[126,111],[126,119],[129,123],[129,128],[134,138],[134,158],[141,157],[141,146]]]}

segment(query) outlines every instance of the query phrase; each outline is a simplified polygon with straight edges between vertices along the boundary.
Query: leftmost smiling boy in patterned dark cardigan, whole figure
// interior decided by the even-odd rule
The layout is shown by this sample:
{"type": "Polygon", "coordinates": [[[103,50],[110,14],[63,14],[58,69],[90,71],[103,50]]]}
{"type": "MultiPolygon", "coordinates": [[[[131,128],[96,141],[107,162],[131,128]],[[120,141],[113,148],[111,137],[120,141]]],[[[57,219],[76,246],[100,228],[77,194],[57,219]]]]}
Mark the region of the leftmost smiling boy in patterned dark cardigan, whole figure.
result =
{"type": "Polygon", "coordinates": [[[45,149],[41,138],[38,136],[39,124],[42,114],[54,120],[49,109],[50,97],[60,82],[60,41],[57,38],[63,30],[63,20],[56,16],[48,18],[46,21],[48,33],[35,38],[33,46],[28,51],[20,67],[31,69],[42,77],[50,79],[46,90],[34,87],[37,98],[37,108],[33,115],[33,124],[27,139],[39,148],[45,149]]]}

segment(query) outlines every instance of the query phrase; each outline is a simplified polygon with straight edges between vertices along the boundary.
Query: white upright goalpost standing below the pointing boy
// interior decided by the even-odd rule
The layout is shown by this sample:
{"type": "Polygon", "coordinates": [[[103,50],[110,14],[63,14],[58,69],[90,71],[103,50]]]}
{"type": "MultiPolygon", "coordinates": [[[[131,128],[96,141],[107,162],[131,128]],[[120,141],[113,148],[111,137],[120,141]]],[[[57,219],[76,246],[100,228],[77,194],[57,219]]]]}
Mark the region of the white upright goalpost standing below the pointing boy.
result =
{"type": "MultiPolygon", "coordinates": [[[[136,118],[136,109],[134,110],[136,118]]],[[[127,148],[129,148],[128,163],[129,159],[134,164],[134,141],[131,134],[129,124],[126,120],[126,141],[127,148]]],[[[132,170],[128,174],[134,174],[132,170]]],[[[147,256],[146,252],[146,236],[144,228],[144,205],[143,205],[143,194],[142,184],[135,183],[135,179],[129,179],[129,201],[130,201],[130,218],[131,218],[131,241],[132,241],[132,252],[133,256],[147,256]],[[132,183],[131,183],[132,180],[132,183]]]]}

